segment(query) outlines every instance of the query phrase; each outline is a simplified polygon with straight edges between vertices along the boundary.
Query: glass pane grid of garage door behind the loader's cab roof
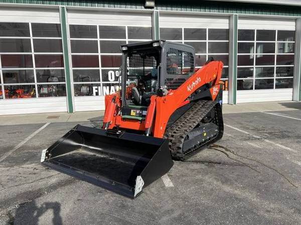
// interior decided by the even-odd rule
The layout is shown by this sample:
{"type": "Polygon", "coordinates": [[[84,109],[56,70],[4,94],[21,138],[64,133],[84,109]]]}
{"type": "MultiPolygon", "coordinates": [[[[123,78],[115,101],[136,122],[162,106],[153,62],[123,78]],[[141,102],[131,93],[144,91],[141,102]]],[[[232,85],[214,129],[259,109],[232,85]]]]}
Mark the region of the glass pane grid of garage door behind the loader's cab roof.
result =
{"type": "Polygon", "coordinates": [[[211,57],[223,61],[223,88],[228,90],[229,29],[160,27],[160,36],[193,46],[196,51],[196,68],[201,68],[211,57]]]}

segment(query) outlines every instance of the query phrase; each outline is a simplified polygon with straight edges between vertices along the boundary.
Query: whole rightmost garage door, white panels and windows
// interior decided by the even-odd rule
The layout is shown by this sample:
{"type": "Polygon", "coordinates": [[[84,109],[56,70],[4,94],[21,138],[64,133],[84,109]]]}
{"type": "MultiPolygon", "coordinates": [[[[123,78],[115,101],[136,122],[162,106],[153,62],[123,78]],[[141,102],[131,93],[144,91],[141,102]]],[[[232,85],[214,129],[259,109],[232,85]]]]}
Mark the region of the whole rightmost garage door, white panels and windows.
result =
{"type": "Polygon", "coordinates": [[[292,100],[295,20],[239,17],[237,103],[292,100]]]}

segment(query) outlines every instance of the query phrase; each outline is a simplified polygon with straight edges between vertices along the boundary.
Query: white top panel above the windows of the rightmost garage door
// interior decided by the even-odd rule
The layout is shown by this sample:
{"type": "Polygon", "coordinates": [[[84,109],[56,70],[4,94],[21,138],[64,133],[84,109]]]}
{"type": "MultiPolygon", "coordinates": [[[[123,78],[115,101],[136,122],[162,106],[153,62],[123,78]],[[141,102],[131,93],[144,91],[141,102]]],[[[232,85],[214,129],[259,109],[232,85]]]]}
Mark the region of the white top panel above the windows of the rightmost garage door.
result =
{"type": "Polygon", "coordinates": [[[281,29],[294,30],[294,19],[238,17],[238,29],[281,29]]]}

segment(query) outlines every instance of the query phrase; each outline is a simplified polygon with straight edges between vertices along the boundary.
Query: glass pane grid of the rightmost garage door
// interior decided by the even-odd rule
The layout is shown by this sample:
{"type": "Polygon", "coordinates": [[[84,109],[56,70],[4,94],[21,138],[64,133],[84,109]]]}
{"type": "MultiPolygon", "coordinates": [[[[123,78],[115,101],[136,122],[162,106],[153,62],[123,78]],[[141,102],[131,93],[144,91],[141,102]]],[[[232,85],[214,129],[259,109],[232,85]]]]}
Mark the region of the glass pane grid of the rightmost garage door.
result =
{"type": "Polygon", "coordinates": [[[238,30],[237,89],[292,88],[293,30],[238,30]]]}

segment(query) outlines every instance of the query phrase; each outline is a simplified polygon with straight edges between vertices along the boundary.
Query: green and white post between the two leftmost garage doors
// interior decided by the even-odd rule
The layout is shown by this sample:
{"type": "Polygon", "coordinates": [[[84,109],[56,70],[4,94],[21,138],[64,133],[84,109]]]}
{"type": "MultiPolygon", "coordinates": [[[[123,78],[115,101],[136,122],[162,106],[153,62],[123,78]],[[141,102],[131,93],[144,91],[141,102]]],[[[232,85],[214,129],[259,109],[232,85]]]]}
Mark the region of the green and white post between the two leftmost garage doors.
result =
{"type": "Polygon", "coordinates": [[[67,93],[67,108],[69,113],[73,113],[73,97],[72,97],[72,86],[71,86],[71,73],[69,64],[69,48],[68,48],[68,32],[67,32],[67,16],[66,7],[60,6],[60,19],[61,19],[61,30],[62,30],[62,43],[63,43],[63,55],[64,55],[64,68],[66,77],[66,93],[67,93]]]}

